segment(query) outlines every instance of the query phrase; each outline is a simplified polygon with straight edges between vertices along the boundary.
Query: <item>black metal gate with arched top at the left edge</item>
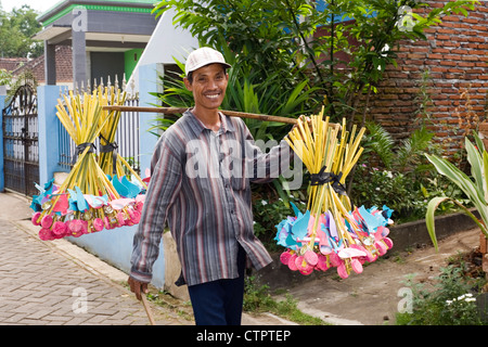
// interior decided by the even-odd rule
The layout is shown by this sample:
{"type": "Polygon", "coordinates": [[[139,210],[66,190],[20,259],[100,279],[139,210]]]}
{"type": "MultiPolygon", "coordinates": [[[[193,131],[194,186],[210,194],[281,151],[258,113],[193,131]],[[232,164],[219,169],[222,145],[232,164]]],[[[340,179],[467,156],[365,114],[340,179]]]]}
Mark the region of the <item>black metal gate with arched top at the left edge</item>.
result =
{"type": "Polygon", "coordinates": [[[39,183],[37,97],[31,86],[18,87],[3,108],[2,119],[5,189],[37,194],[34,184],[39,183]]]}

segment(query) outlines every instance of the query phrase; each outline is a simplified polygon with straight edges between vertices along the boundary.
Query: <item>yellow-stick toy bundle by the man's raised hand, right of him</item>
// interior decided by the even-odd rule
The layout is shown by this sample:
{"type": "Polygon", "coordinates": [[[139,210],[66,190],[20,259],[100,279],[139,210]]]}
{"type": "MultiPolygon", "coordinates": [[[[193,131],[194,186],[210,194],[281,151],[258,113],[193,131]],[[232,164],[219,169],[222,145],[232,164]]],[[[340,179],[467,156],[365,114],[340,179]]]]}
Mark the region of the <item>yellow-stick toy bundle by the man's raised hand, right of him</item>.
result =
{"type": "Polygon", "coordinates": [[[287,248],[280,260],[291,270],[310,274],[335,267],[346,279],[391,248],[387,226],[393,210],[351,206],[344,184],[363,151],[365,129],[347,131],[345,120],[342,127],[329,120],[323,111],[309,123],[300,117],[286,138],[310,174],[309,197],[305,213],[293,205],[295,217],[277,226],[274,240],[287,248]]]}

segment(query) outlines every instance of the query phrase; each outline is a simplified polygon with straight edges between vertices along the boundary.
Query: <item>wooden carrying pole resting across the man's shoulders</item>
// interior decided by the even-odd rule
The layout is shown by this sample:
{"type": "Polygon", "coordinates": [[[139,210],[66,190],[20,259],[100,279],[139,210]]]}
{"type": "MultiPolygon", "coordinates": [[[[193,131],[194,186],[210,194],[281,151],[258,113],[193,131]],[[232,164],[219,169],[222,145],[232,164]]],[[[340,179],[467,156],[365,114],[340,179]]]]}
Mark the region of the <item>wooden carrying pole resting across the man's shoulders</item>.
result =
{"type": "MultiPolygon", "coordinates": [[[[103,106],[102,108],[104,111],[154,112],[154,113],[164,113],[164,114],[168,114],[168,115],[183,113],[188,110],[188,107],[142,107],[142,106],[118,106],[118,105],[103,106]]],[[[286,118],[286,117],[270,116],[270,115],[259,115],[259,114],[255,114],[255,113],[245,113],[245,112],[236,112],[236,111],[226,111],[226,110],[219,110],[219,111],[230,117],[252,118],[252,119],[259,119],[259,120],[264,120],[264,121],[278,121],[278,123],[285,123],[285,124],[293,124],[293,125],[295,125],[297,123],[295,118],[286,118]]]]}

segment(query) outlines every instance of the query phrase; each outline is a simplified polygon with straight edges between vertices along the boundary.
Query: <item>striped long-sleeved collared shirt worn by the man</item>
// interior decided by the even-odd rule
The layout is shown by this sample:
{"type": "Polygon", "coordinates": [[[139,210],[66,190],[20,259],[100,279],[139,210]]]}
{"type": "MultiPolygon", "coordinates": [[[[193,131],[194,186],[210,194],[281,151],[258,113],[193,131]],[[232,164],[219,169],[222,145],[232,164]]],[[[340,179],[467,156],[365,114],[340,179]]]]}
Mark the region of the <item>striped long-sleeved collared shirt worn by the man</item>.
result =
{"type": "Polygon", "coordinates": [[[213,131],[187,111],[158,140],[133,240],[134,279],[151,281],[166,221],[188,285],[237,278],[239,244],[256,269],[272,261],[254,235],[249,181],[287,170],[292,151],[282,140],[264,153],[242,119],[220,114],[220,123],[213,131]]]}

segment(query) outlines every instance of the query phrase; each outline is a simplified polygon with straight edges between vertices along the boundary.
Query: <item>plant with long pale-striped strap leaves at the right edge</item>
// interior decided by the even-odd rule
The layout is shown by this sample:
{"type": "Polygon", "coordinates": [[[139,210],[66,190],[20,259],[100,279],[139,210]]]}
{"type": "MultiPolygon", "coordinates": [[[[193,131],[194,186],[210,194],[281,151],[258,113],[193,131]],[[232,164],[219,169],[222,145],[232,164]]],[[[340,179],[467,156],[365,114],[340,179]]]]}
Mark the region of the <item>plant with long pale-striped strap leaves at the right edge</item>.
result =
{"type": "Polygon", "coordinates": [[[479,227],[481,232],[488,237],[488,153],[479,137],[474,132],[476,146],[465,138],[465,150],[467,153],[467,160],[471,165],[472,179],[452,165],[449,160],[438,157],[436,155],[425,154],[427,159],[434,164],[437,171],[447,177],[452,183],[458,185],[466,195],[467,200],[474,205],[479,214],[478,219],[464,204],[455,198],[449,196],[437,196],[431,200],[427,206],[425,221],[431,240],[438,249],[437,236],[435,232],[435,210],[437,206],[445,202],[451,201],[458,205],[473,221],[479,227]]]}

